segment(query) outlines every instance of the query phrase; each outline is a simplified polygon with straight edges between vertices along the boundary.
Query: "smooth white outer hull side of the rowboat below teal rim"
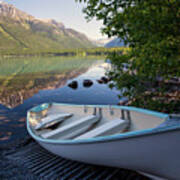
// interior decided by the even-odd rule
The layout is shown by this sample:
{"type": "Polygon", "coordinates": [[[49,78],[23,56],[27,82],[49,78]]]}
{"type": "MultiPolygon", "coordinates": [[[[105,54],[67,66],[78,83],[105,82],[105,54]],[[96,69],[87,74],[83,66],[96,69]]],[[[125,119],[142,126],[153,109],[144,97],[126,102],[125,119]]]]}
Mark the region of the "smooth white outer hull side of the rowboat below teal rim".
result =
{"type": "Polygon", "coordinates": [[[180,131],[174,131],[100,143],[39,143],[48,151],[68,159],[180,179],[179,137],[180,131]]]}

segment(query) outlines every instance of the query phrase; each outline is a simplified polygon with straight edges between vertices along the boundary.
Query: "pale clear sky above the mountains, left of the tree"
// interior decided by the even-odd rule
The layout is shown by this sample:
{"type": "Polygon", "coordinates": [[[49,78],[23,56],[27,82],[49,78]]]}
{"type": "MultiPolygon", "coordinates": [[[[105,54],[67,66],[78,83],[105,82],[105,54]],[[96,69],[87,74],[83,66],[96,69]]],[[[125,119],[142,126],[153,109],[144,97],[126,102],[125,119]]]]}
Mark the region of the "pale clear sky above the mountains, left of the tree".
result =
{"type": "Polygon", "coordinates": [[[85,33],[90,39],[105,38],[100,32],[102,22],[87,22],[82,12],[83,4],[75,0],[4,0],[26,13],[43,19],[55,19],[67,28],[85,33]]]}

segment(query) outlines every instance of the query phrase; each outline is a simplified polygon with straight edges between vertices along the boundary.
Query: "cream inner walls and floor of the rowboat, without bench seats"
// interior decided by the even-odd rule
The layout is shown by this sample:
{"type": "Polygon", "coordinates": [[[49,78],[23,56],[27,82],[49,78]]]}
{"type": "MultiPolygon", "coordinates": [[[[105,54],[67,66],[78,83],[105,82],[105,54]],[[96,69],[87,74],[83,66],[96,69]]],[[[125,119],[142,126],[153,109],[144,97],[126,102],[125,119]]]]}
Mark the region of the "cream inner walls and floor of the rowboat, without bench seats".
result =
{"type": "MultiPolygon", "coordinates": [[[[73,116],[70,118],[65,119],[61,123],[57,124],[53,128],[46,128],[46,129],[41,129],[41,130],[35,130],[35,126],[41,122],[41,119],[35,120],[33,118],[28,118],[29,123],[30,123],[30,128],[32,132],[39,136],[42,137],[43,134],[52,132],[59,127],[64,127],[68,124],[71,124],[79,119],[82,119],[83,117],[90,116],[94,113],[94,108],[96,107],[96,113],[99,113],[99,109],[101,109],[102,115],[100,121],[95,123],[93,126],[90,128],[87,128],[85,130],[85,133],[93,130],[95,128],[101,127],[103,124],[117,120],[117,119],[124,119],[129,122],[128,128],[125,128],[123,131],[114,131],[114,132],[108,132],[107,134],[104,135],[112,135],[112,134],[120,134],[120,133],[126,133],[130,131],[137,131],[137,130],[145,130],[149,128],[155,128],[159,126],[161,123],[164,122],[165,119],[159,118],[153,115],[148,115],[145,113],[140,113],[140,112],[135,112],[135,111],[122,111],[120,108],[116,107],[110,107],[110,106],[103,106],[100,108],[99,106],[74,106],[74,105],[58,105],[58,104],[53,104],[47,112],[48,115],[53,115],[53,114],[59,114],[59,113],[73,113],[73,116]]],[[[83,133],[82,133],[83,134],[83,133]]],[[[82,135],[81,134],[81,135],[82,135]]],[[[73,137],[73,139],[75,139],[73,137]]],[[[50,139],[63,139],[60,135],[52,136],[50,139]]],[[[68,139],[68,138],[66,138],[68,139]]],[[[69,138],[69,139],[72,139],[69,138]]]]}

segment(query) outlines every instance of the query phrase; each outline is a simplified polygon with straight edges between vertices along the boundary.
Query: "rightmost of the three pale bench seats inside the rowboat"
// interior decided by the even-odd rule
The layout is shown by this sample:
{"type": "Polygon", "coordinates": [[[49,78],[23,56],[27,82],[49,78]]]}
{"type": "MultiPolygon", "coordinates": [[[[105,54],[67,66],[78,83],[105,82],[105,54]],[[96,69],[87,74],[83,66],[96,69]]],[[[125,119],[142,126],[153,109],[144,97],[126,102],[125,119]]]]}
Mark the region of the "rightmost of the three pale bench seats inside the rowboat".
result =
{"type": "Polygon", "coordinates": [[[110,122],[107,122],[100,127],[97,127],[81,136],[78,136],[75,139],[87,139],[87,138],[94,138],[97,136],[103,136],[103,135],[110,135],[114,133],[121,132],[125,128],[128,127],[128,121],[122,120],[122,119],[115,119],[111,120],[110,122]]]}

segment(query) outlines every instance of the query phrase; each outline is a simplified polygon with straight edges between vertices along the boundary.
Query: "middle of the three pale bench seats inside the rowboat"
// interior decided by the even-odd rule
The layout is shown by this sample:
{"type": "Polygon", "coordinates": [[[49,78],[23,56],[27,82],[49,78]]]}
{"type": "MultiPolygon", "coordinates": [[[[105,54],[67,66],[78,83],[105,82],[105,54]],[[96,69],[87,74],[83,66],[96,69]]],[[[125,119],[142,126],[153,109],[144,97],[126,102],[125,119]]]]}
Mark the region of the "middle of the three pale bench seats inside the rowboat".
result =
{"type": "Polygon", "coordinates": [[[87,130],[92,124],[96,123],[100,119],[100,116],[90,115],[83,117],[77,121],[67,124],[63,127],[59,127],[56,130],[42,134],[43,138],[50,138],[58,136],[60,139],[67,139],[79,135],[87,130]]]}

